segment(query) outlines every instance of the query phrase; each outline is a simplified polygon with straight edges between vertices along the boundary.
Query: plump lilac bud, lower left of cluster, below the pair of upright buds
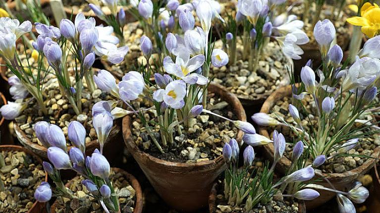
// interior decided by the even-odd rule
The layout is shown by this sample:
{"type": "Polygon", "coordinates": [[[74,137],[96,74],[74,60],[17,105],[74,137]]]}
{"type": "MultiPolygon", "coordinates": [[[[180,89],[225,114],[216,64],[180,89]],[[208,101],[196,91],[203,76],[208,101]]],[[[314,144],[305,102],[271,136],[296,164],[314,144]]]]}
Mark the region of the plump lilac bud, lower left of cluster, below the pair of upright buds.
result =
{"type": "Polygon", "coordinates": [[[48,158],[57,170],[68,170],[72,168],[69,156],[58,147],[52,146],[48,148],[48,158]]]}

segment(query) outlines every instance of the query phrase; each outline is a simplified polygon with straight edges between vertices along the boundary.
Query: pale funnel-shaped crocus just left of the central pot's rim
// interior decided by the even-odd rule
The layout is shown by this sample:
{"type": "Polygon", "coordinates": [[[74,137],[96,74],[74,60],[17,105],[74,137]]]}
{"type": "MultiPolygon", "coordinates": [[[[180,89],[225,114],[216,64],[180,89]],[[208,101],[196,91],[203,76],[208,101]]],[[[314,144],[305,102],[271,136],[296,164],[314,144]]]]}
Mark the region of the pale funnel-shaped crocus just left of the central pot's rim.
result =
{"type": "Polygon", "coordinates": [[[92,120],[92,125],[98,135],[100,150],[103,153],[103,146],[113,126],[113,118],[110,112],[97,114],[92,120]]]}

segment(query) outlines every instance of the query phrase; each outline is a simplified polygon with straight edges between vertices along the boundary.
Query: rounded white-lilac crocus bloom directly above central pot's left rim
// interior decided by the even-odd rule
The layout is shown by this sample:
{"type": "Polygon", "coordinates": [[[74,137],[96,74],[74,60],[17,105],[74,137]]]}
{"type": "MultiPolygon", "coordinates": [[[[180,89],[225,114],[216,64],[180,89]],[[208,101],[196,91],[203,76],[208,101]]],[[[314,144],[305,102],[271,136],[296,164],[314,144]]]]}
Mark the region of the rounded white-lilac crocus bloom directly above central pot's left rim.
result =
{"type": "Polygon", "coordinates": [[[118,84],[120,98],[124,101],[135,100],[143,92],[144,86],[144,77],[136,71],[130,71],[118,84]]]}

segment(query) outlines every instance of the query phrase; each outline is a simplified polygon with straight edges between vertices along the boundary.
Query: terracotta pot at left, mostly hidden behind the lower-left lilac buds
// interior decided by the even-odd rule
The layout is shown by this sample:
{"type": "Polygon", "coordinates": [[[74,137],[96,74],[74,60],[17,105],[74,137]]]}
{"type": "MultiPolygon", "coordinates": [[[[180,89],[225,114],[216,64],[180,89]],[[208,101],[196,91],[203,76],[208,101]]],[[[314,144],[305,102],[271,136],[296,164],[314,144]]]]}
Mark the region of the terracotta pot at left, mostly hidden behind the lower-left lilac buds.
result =
{"type": "MultiPolygon", "coordinates": [[[[48,149],[45,146],[41,146],[38,143],[32,142],[32,140],[27,137],[26,133],[21,130],[21,128],[14,122],[13,124],[14,131],[16,132],[17,138],[20,143],[27,149],[33,151],[38,156],[43,159],[47,159],[48,149]]],[[[116,162],[117,157],[120,157],[123,149],[120,135],[120,125],[115,124],[112,127],[109,137],[104,145],[104,155],[108,157],[110,163],[116,162]]],[[[72,146],[68,146],[67,149],[70,150],[72,146]]],[[[86,155],[91,156],[95,149],[99,149],[98,140],[92,140],[89,143],[86,143],[86,155]]],[[[112,164],[113,165],[113,164],[112,164]]]]}

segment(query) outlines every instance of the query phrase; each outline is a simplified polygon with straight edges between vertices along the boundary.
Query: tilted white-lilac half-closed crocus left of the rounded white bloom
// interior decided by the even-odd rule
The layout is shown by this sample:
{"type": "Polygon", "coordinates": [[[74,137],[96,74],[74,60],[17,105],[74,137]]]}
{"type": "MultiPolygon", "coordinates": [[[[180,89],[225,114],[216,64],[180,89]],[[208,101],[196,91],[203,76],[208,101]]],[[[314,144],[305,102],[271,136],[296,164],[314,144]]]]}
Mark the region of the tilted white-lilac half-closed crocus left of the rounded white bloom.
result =
{"type": "Polygon", "coordinates": [[[94,75],[94,82],[102,91],[118,96],[119,89],[116,85],[116,79],[107,70],[98,71],[98,75],[94,75]]]}

